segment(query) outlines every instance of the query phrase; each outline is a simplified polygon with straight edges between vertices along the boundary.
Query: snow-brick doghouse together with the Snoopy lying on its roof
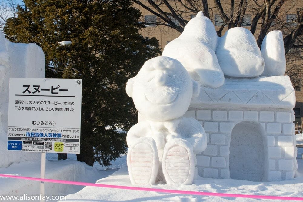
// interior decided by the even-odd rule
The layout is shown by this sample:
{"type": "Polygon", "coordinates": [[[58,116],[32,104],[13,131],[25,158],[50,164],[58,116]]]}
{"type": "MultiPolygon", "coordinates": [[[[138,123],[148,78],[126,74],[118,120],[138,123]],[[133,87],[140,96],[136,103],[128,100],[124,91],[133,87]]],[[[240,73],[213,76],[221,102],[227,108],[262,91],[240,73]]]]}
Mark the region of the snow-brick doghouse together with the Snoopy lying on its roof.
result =
{"type": "Polygon", "coordinates": [[[283,76],[281,31],[269,32],[260,50],[242,27],[229,29],[217,40],[212,22],[199,12],[181,36],[165,46],[163,55],[179,60],[200,84],[200,95],[191,100],[185,116],[200,121],[207,133],[207,148],[197,154],[201,177],[294,177],[295,91],[283,76]]]}

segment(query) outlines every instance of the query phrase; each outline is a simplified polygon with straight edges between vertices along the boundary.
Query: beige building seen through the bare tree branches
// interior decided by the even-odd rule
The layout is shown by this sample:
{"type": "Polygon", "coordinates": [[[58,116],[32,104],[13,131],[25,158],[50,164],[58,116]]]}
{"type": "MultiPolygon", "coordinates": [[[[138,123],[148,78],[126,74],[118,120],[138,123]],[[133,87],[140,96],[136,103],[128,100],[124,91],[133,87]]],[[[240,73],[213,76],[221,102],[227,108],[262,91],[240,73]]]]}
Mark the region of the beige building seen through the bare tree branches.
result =
{"type": "MultiPolygon", "coordinates": [[[[141,2],[148,6],[151,9],[154,9],[151,7],[151,5],[148,3],[147,0],[141,0],[141,2]]],[[[154,2],[159,2],[159,1],[154,1],[154,2]]],[[[173,6],[174,9],[182,10],[182,5],[178,1],[168,1],[171,3],[171,6],[173,6]],[[176,4],[175,4],[176,2],[176,4]]],[[[185,2],[185,1],[182,1],[185,2]]],[[[201,1],[202,2],[202,1],[201,1]]],[[[238,2],[235,1],[235,11],[238,8],[238,2]]],[[[261,1],[257,1],[261,2],[261,1]]],[[[262,1],[263,2],[263,1],[262,1]]],[[[262,3],[261,2],[261,3],[262,3]]],[[[230,1],[223,0],[221,1],[223,10],[226,12],[226,15],[228,14],[228,11],[231,10],[230,6],[230,1]]],[[[147,22],[147,23],[152,23],[152,22],[161,22],[161,19],[157,17],[156,15],[152,14],[142,6],[134,3],[134,6],[137,7],[141,12],[143,19],[142,21],[147,22]]],[[[281,29],[284,36],[291,31],[291,28],[293,28],[296,24],[292,23],[293,20],[297,18],[296,12],[297,8],[302,8],[303,7],[303,0],[288,0],[284,3],[284,5],[281,7],[280,12],[278,13],[277,18],[275,21],[272,23],[272,27],[269,29],[271,30],[280,30],[281,25],[284,25],[283,28],[281,29]],[[286,26],[285,26],[286,25],[286,26]]],[[[167,6],[162,4],[160,8],[164,12],[170,12],[167,6]]],[[[201,10],[202,5],[200,5],[201,10]]],[[[218,31],[221,28],[222,25],[222,19],[219,15],[218,10],[216,9],[216,6],[214,5],[213,1],[208,1],[208,8],[209,8],[209,14],[210,14],[210,19],[215,25],[215,29],[218,31]]],[[[256,14],[256,9],[258,9],[258,5],[255,3],[255,1],[248,0],[248,5],[246,8],[246,12],[243,15],[243,24],[241,25],[244,28],[251,29],[251,24],[252,20],[256,14]]],[[[154,9],[155,10],[155,9],[154,9]]],[[[183,12],[182,13],[182,18],[185,20],[190,20],[191,18],[195,17],[194,12],[183,12]]],[[[171,16],[169,16],[171,18],[171,16]]],[[[173,22],[176,23],[176,25],[179,25],[179,22],[175,20],[174,18],[171,18],[173,22]]],[[[260,20],[261,21],[261,20],[260,20]]],[[[260,34],[260,26],[258,25],[255,31],[255,38],[258,38],[260,34]]],[[[228,26],[225,25],[222,30],[222,35],[224,35],[225,31],[228,30],[228,26]]],[[[160,48],[163,50],[166,44],[168,44],[170,41],[174,40],[180,35],[180,32],[176,31],[173,28],[170,28],[168,26],[163,26],[163,25],[146,25],[146,28],[142,31],[142,34],[144,36],[148,37],[156,37],[159,40],[160,48]]],[[[302,61],[298,61],[298,64],[302,64],[302,61]]],[[[289,64],[288,66],[289,67],[289,64]]],[[[301,74],[301,70],[298,71],[301,74]]],[[[303,92],[302,92],[302,85],[300,83],[300,80],[297,80],[296,83],[294,83],[295,91],[296,91],[296,107],[294,108],[295,111],[295,123],[298,123],[300,125],[303,121],[303,92]]]]}

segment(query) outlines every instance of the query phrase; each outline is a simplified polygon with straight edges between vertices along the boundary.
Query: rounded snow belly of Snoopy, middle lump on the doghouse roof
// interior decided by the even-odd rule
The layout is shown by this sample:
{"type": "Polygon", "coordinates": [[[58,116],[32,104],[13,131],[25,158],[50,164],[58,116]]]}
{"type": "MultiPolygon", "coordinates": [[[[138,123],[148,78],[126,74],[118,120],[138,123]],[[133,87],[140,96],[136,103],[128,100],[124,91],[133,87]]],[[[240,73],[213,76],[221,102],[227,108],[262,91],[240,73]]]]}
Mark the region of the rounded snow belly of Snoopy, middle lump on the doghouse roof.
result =
{"type": "Polygon", "coordinates": [[[242,27],[226,31],[218,42],[216,55],[227,76],[256,77],[264,70],[264,60],[254,35],[242,27]]]}

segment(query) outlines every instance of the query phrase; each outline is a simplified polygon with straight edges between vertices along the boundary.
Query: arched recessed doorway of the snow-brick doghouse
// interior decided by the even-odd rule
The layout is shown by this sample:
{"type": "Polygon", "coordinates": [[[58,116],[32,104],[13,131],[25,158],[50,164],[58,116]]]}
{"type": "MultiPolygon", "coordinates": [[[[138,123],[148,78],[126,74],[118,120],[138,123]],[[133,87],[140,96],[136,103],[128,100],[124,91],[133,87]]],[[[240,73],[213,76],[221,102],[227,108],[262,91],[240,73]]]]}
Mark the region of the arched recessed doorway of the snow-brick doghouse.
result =
{"type": "Polygon", "coordinates": [[[231,179],[262,181],[264,143],[260,124],[241,122],[231,132],[229,171],[231,179]]]}

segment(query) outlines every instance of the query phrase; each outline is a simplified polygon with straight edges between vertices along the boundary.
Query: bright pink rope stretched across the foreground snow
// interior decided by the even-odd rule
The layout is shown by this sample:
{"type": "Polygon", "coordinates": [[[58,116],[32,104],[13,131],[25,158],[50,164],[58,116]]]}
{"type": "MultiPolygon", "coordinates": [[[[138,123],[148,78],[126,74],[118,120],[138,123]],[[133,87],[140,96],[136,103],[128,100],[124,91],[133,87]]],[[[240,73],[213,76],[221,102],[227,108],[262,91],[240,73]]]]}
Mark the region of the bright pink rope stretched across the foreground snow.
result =
{"type": "Polygon", "coordinates": [[[59,184],[72,184],[72,185],[92,186],[92,187],[106,187],[106,188],[113,188],[113,189],[128,189],[128,190],[138,190],[138,191],[153,191],[153,192],[164,192],[164,193],[173,193],[173,194],[218,196],[218,197],[237,197],[237,198],[257,198],[257,199],[278,199],[278,200],[301,200],[301,201],[303,201],[303,197],[226,194],[226,193],[212,193],[212,192],[200,192],[200,191],[182,191],[182,190],[154,189],[154,188],[144,188],[144,187],[128,187],[128,186],[120,186],[120,185],[95,184],[95,183],[88,183],[88,182],[74,182],[74,181],[66,181],[66,180],[52,180],[52,179],[42,179],[42,178],[36,178],[36,177],[23,177],[23,176],[5,175],[5,174],[0,174],[0,177],[9,177],[9,178],[22,179],[22,180],[51,182],[51,183],[59,183],[59,184]]]}

